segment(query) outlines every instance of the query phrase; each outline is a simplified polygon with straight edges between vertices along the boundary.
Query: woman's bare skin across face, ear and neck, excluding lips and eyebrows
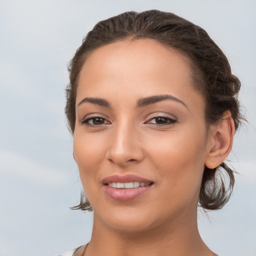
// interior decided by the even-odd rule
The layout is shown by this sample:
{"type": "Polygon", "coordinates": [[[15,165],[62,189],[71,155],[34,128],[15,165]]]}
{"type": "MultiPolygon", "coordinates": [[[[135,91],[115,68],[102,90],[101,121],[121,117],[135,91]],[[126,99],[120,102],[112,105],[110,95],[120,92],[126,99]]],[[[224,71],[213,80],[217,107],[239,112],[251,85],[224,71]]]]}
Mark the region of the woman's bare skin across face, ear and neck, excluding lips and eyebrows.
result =
{"type": "Polygon", "coordinates": [[[206,129],[190,60],[175,49],[127,39],[94,50],[80,72],[73,134],[74,159],[94,211],[86,255],[212,256],[197,229],[198,194],[204,166],[217,166],[231,149],[232,123],[228,118],[206,129]],[[178,100],[137,106],[141,98],[166,94],[178,100]],[[134,200],[107,196],[102,179],[125,173],[153,185],[134,200]]]}

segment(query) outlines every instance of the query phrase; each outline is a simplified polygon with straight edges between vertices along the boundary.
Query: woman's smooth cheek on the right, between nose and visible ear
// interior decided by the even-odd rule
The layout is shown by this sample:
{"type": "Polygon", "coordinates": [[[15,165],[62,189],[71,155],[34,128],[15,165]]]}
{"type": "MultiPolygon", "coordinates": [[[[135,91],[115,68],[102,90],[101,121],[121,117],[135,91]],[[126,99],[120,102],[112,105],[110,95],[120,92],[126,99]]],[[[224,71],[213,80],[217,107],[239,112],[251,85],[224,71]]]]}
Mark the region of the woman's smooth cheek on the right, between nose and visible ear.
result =
{"type": "Polygon", "coordinates": [[[194,193],[201,184],[206,138],[198,132],[182,130],[151,141],[152,162],[159,171],[160,182],[176,195],[194,193]],[[157,141],[157,142],[156,142],[157,141]]]}

